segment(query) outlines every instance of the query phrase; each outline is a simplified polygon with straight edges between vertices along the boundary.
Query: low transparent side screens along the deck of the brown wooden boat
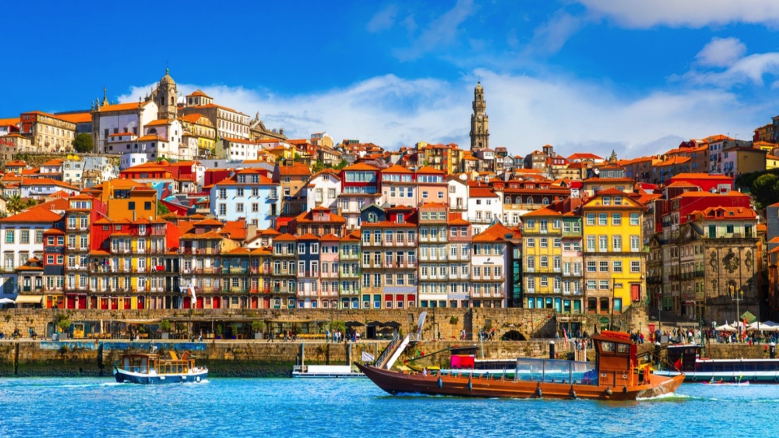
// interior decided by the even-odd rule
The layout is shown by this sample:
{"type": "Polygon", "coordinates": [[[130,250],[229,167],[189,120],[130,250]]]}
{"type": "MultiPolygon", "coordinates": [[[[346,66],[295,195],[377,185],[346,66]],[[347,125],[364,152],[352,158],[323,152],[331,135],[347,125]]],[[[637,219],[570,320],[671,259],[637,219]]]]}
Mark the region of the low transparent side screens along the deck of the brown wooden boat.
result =
{"type": "Polygon", "coordinates": [[[447,374],[453,376],[478,376],[480,379],[505,379],[541,383],[569,383],[575,385],[597,386],[597,369],[594,362],[577,362],[556,359],[516,359],[513,368],[506,367],[495,373],[474,374],[473,370],[453,370],[447,374]]]}

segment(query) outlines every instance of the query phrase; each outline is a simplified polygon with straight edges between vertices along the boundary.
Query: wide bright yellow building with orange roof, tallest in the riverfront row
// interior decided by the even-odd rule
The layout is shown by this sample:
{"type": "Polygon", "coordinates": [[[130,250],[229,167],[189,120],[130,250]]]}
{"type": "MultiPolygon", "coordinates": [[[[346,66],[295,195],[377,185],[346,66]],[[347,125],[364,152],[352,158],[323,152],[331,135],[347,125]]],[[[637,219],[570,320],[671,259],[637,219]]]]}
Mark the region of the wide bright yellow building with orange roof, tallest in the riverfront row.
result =
{"type": "Polygon", "coordinates": [[[582,206],[587,313],[621,313],[643,301],[643,206],[619,189],[582,206]]]}

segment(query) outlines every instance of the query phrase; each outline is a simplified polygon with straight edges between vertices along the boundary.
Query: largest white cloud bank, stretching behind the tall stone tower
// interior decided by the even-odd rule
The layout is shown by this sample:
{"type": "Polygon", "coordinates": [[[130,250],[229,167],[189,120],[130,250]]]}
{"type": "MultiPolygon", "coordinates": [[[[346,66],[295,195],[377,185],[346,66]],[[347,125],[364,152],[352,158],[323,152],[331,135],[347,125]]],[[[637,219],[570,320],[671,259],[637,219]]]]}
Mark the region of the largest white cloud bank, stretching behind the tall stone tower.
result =
{"type": "MultiPolygon", "coordinates": [[[[179,84],[189,94],[201,88],[217,104],[253,115],[291,138],[326,131],[334,140],[373,142],[388,149],[418,141],[458,143],[467,148],[476,77],[485,87],[492,147],[527,154],[546,143],[561,154],[591,151],[619,157],[662,152],[680,138],[730,132],[740,138],[763,124],[764,108],[744,104],[721,90],[615,95],[601,85],[569,77],[499,75],[477,70],[453,83],[439,79],[377,76],[349,87],[282,96],[268,90],[179,84]],[[694,108],[694,111],[691,111],[694,108]]],[[[136,87],[120,101],[137,101],[149,87],[136,87]]]]}

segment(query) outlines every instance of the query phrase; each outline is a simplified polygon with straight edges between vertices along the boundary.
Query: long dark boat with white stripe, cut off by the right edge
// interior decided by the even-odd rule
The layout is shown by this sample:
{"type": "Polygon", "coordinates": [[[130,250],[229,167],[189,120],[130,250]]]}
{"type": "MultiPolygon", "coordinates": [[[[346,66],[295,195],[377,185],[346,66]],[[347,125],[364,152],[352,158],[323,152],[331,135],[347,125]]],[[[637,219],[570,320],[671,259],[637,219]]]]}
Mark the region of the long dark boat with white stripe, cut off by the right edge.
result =
{"type": "Polygon", "coordinates": [[[687,382],[779,383],[779,359],[706,359],[700,344],[668,345],[668,362],[678,369],[660,369],[660,376],[684,374],[687,382]]]}

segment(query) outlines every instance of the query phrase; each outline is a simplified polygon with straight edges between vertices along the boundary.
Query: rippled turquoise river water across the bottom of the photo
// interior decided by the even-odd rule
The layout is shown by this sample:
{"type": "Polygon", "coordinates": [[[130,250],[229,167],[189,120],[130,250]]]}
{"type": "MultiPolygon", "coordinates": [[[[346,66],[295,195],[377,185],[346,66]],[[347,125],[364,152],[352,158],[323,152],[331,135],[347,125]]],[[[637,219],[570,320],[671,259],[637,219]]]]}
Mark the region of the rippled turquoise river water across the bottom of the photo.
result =
{"type": "Polygon", "coordinates": [[[370,381],[0,380],[0,436],[779,436],[779,385],[630,403],[385,394],[370,381]]]}

